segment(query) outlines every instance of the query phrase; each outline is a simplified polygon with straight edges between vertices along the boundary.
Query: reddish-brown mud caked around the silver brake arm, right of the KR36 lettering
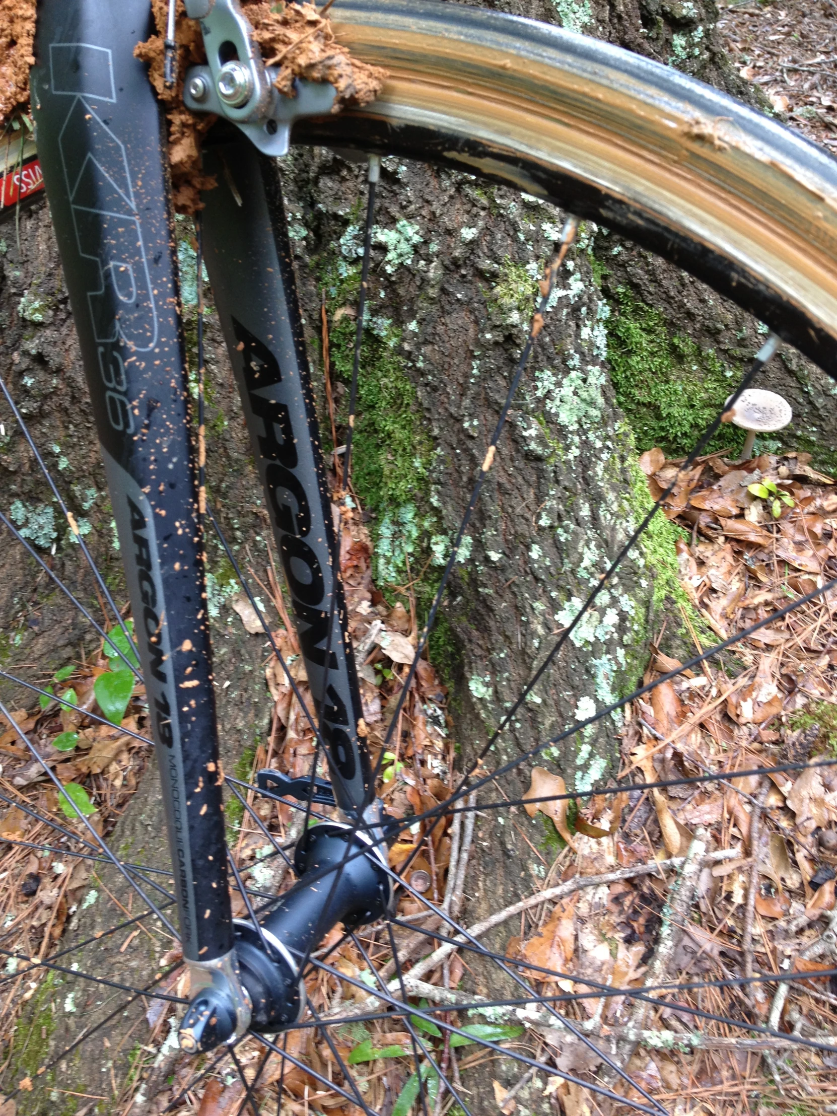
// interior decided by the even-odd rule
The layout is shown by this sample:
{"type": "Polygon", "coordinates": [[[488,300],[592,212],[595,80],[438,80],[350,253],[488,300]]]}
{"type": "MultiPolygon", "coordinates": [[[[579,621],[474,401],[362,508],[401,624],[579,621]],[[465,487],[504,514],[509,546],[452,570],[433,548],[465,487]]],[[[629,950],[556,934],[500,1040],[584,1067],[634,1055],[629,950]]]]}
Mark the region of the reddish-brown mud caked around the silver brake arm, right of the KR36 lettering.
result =
{"type": "MultiPolygon", "coordinates": [[[[167,0],[152,0],[157,33],[141,42],[135,55],[150,67],[148,77],[160,99],[167,106],[169,158],[172,169],[174,208],[179,213],[195,213],[201,209],[200,193],[211,189],[214,180],[201,170],[201,140],[215,117],[198,116],[183,105],[183,83],[189,66],[206,61],[200,25],[186,17],[183,0],[177,2],[175,41],[177,42],[177,80],[169,89],[163,80],[164,39],[169,15],[167,0]]],[[[253,27],[253,38],[267,66],[279,66],[277,89],[294,96],[295,78],[329,81],[337,89],[333,112],[346,105],[366,105],[381,92],[385,71],[353,59],[334,37],[329,20],[314,4],[276,6],[242,3],[253,27]]]]}

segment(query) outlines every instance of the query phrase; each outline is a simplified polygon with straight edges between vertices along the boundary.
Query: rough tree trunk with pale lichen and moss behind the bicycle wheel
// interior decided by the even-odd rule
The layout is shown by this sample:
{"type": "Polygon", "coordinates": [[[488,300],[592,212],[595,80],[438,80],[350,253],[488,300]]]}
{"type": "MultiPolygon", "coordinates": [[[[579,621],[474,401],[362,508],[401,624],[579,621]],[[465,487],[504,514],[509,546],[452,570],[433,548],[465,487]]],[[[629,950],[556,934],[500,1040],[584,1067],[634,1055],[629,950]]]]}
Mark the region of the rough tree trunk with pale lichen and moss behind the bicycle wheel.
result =
{"type": "MultiPolygon", "coordinates": [[[[502,0],[493,7],[609,39],[749,96],[750,87],[732,70],[716,40],[713,3],[502,0]]],[[[364,175],[330,152],[316,150],[292,153],[285,161],[285,181],[323,429],[329,427],[319,325],[325,299],[341,442],[364,175]]],[[[354,483],[375,540],[378,588],[392,600],[396,587],[410,585],[420,612],[426,614],[442,569],[437,559],[446,557],[445,547],[468,503],[526,338],[537,278],[565,214],[468,175],[395,158],[384,160],[379,196],[354,483]]],[[[182,259],[193,267],[186,230],[182,231],[182,259]]],[[[122,603],[110,509],[93,422],[86,416],[78,348],[46,206],[22,214],[19,233],[7,223],[3,234],[0,366],[70,510],[89,523],[86,541],[122,603]]],[[[187,307],[190,329],[193,315],[187,307]]],[[[653,444],[650,437],[664,434],[666,449],[686,452],[689,439],[700,433],[685,420],[680,426],[666,425],[656,396],[662,417],[656,425],[646,421],[650,404],[635,387],[637,369],[647,376],[646,355],[655,357],[654,375],[648,377],[652,388],[655,382],[676,384],[696,377],[720,403],[721,393],[728,394],[734,383],[727,373],[734,374],[758,344],[757,324],[696,281],[616,242],[606,230],[581,230],[559,276],[556,308],[509,413],[468,532],[466,560],[455,568],[431,641],[432,658],[450,686],[450,731],[462,762],[483,747],[557,631],[598,583],[647,508],[636,449],[647,449],[653,444]],[[692,348],[684,338],[691,338],[692,348]],[[608,350],[619,373],[614,377],[616,391],[608,375],[608,350]]],[[[837,427],[826,413],[830,395],[825,377],[797,354],[782,359],[775,362],[777,368],[766,383],[790,398],[797,413],[786,444],[812,439],[811,427],[817,427],[817,437],[837,453],[837,427]]],[[[208,378],[210,492],[241,565],[252,564],[260,574],[267,528],[262,496],[212,315],[208,378]]],[[[92,578],[78,564],[78,548],[59,522],[28,450],[12,433],[4,407],[0,417],[6,429],[0,439],[3,510],[11,506],[12,518],[45,557],[55,545],[49,559],[55,570],[100,615],[92,578]]],[[[501,734],[487,757],[490,769],[635,685],[660,606],[676,591],[674,537],[665,521],[655,521],[648,539],[599,598],[589,623],[578,629],[501,734]]],[[[228,623],[231,570],[214,545],[210,566],[222,744],[225,762],[232,763],[269,724],[270,702],[260,668],[266,652],[263,641],[248,637],[237,617],[228,623]]],[[[0,623],[8,633],[0,653],[8,668],[19,667],[27,677],[44,681],[68,661],[89,654],[97,641],[59,594],[45,593],[44,575],[38,578],[35,564],[21,560],[17,543],[8,542],[0,552],[0,623]],[[35,663],[40,674],[21,665],[35,663]]],[[[680,626],[676,614],[668,637],[676,638],[680,626]]],[[[6,686],[2,692],[6,698],[11,693],[16,704],[32,705],[20,690],[6,686]]],[[[613,772],[618,724],[617,716],[609,718],[595,731],[564,741],[540,762],[560,770],[569,786],[590,787],[613,772]]],[[[509,798],[526,790],[530,771],[531,763],[526,763],[504,779],[502,789],[509,798]]],[[[491,787],[483,795],[485,800],[501,797],[491,787]]],[[[543,833],[539,821],[519,811],[491,811],[480,818],[464,924],[530,893],[532,875],[542,878],[545,873],[541,859],[550,860],[543,833]]],[[[117,847],[131,840],[138,859],[153,862],[164,853],[153,780],[146,778],[141,785],[114,840],[117,847]]],[[[119,882],[106,878],[114,895],[125,902],[119,882]]],[[[110,913],[116,921],[115,908],[110,913]]],[[[79,913],[70,933],[76,940],[88,936],[102,929],[102,917],[96,910],[79,913]]],[[[510,932],[499,927],[487,943],[502,953],[510,932]]],[[[98,972],[113,975],[124,970],[119,944],[98,949],[94,959],[98,972]]],[[[135,958],[132,982],[152,974],[157,963],[147,950],[135,958]]],[[[496,968],[472,968],[479,991],[510,987],[498,980],[496,968]]],[[[92,997],[85,1006],[85,1023],[97,1010],[96,999],[100,998],[92,997]]],[[[78,1030],[80,1016],[62,1012],[61,1002],[58,992],[44,1002],[33,998],[19,1026],[7,1081],[33,1072],[78,1030]]],[[[105,1010],[100,1004],[98,1009],[105,1010]]],[[[134,1021],[128,1016],[114,1022],[116,1039],[108,1032],[113,1047],[134,1021]]],[[[143,1035],[141,1041],[143,1026],[135,1032],[143,1035]]],[[[116,1057],[100,1042],[95,1049],[83,1047],[61,1070],[62,1087],[100,1093],[112,1061],[119,1081],[133,1041],[116,1057]]],[[[490,1075],[468,1083],[472,1110],[492,1110],[491,1077],[509,1086],[519,1076],[513,1064],[492,1062],[490,1075]]],[[[538,1110],[547,1104],[540,1099],[542,1087],[543,1083],[532,1084],[519,1101],[538,1110]]],[[[22,1098],[27,1112],[51,1107],[47,1091],[22,1098]]]]}

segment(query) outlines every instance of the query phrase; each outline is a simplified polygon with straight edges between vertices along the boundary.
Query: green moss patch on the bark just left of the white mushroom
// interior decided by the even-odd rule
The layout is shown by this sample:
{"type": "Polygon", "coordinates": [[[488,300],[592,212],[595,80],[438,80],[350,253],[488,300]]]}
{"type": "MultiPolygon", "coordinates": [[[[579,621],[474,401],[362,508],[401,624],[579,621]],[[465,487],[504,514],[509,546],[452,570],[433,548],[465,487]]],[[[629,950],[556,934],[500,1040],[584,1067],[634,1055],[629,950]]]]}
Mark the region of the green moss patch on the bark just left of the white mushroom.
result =
{"type": "MultiPolygon", "coordinates": [[[[714,349],[671,334],[660,310],[616,291],[607,320],[607,359],[616,400],[637,450],[658,445],[668,456],[689,453],[722,410],[735,384],[714,349]]],[[[740,451],[744,433],[723,425],[709,450],[740,451]]]]}

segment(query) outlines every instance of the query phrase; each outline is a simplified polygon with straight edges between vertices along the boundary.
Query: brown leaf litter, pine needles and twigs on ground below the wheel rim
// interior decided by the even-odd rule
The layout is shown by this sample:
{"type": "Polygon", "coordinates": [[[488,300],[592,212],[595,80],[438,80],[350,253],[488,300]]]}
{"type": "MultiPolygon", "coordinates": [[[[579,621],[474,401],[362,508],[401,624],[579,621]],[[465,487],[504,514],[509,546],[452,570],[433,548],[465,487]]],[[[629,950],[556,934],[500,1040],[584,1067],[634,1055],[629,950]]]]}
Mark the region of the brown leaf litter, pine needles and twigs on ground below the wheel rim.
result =
{"type": "MultiPolygon", "coordinates": [[[[660,496],[682,462],[666,461],[661,451],[652,450],[639,464],[652,494],[660,496]]],[[[408,587],[385,595],[373,585],[372,548],[359,509],[333,507],[364,720],[376,759],[416,644],[415,603],[408,587]]],[[[748,462],[721,454],[703,458],[679,477],[660,513],[684,528],[679,545],[681,583],[705,625],[701,632],[693,624],[690,628],[690,614],[684,613],[683,631],[694,639],[695,650],[769,618],[837,568],[837,484],[812,470],[806,454],[762,454],[748,462]],[[767,497],[760,494],[762,489],[767,497]],[[779,491],[787,499],[779,499],[779,491]]],[[[276,567],[248,573],[271,600],[271,615],[286,617],[273,637],[307,703],[305,667],[287,623],[276,567]]],[[[254,631],[260,622],[252,605],[242,596],[232,606],[247,629],[254,631]]],[[[830,1078],[837,1054],[800,1046],[798,1040],[830,1045],[837,1022],[834,982],[806,975],[837,966],[827,933],[837,922],[837,776],[830,767],[807,768],[718,782],[684,781],[650,792],[632,790],[629,782],[689,780],[719,769],[758,771],[837,754],[835,609],[835,593],[815,598],[767,624],[720,661],[686,670],[658,685],[647,700],[636,700],[622,738],[624,790],[589,801],[527,805],[530,815],[543,815],[552,834],[551,864],[542,887],[469,927],[469,934],[480,940],[510,924],[509,961],[519,963],[539,993],[567,997],[561,1010],[603,1057],[624,1062],[652,1096],[670,1107],[676,1101],[683,1113],[721,1114],[728,1105],[741,1105],[752,1116],[791,1112],[812,1116],[834,1099],[830,1078]],[[559,975],[545,979],[543,969],[559,975]],[[725,988],[712,983],[781,971],[799,973],[799,979],[725,988]],[[651,1003],[596,994],[608,988],[701,983],[705,987],[679,988],[674,999],[671,993],[651,993],[651,1003]],[[693,1019],[690,1009],[727,1021],[693,1019]],[[778,1033],[759,1033],[748,1024],[778,1033]]],[[[667,623],[679,622],[670,617],[667,623]]],[[[658,637],[652,648],[645,681],[680,666],[658,650],[660,642],[658,637]]],[[[74,701],[73,709],[61,711],[45,700],[45,709],[19,714],[19,729],[48,762],[55,761],[59,779],[79,788],[103,830],[112,824],[146,754],[125,732],[128,728],[142,734],[145,729],[140,686],[127,699],[122,691],[119,729],[89,719],[96,710],[109,710],[117,719],[118,709],[108,706],[107,685],[98,683],[98,698],[96,691],[98,679],[118,673],[117,663],[103,653],[96,663],[73,664],[71,672],[59,672],[60,679],[51,680],[57,693],[74,701]]],[[[251,781],[261,767],[304,775],[315,753],[305,711],[273,655],[266,663],[266,681],[273,699],[271,731],[249,758],[248,771],[240,772],[244,781],[251,781]]],[[[432,665],[423,660],[388,745],[392,750],[382,761],[379,792],[391,814],[407,822],[411,815],[444,802],[454,785],[446,696],[432,665]]],[[[3,949],[46,958],[74,908],[84,906],[85,895],[95,886],[95,872],[79,862],[87,874],[76,879],[78,866],[64,866],[66,840],[55,843],[56,852],[46,857],[21,844],[42,839],[38,828],[42,824],[26,808],[55,817],[70,831],[78,824],[74,826],[60,804],[49,798],[42,776],[29,771],[31,762],[17,730],[9,729],[0,747],[4,749],[0,786],[16,804],[0,824],[6,839],[0,874],[11,882],[0,889],[9,932],[3,949]]],[[[529,797],[565,793],[559,775],[533,768],[531,777],[529,797]]],[[[292,874],[283,870],[261,827],[278,839],[292,839],[300,831],[298,811],[261,799],[246,787],[241,793],[247,807],[235,818],[233,853],[242,881],[260,891],[281,892],[291,886],[292,874]]],[[[519,812],[521,807],[511,810],[519,812]]],[[[466,812],[432,826],[421,822],[415,833],[405,829],[389,850],[396,868],[413,857],[411,883],[452,917],[462,899],[473,817],[466,812]]],[[[232,899],[235,913],[246,914],[234,888],[232,899]]],[[[403,895],[398,917],[405,923],[394,927],[405,990],[419,1010],[449,1007],[445,1020],[465,1031],[465,1038],[445,1040],[439,1027],[421,1020],[423,1041],[440,1061],[446,1059],[446,1070],[461,1074],[484,1064],[490,1071],[494,1056],[469,1043],[470,1033],[551,1062],[555,1075],[538,1078],[539,1091],[555,1096],[565,1113],[594,1113],[595,1106],[602,1113],[628,1109],[571,1085],[562,1074],[608,1084],[626,1099],[639,1099],[606,1070],[587,1042],[567,1033],[543,1008],[510,1009],[502,1018],[497,1012],[478,1014],[479,1022],[473,1021],[473,1009],[458,1011],[458,1004],[480,999],[468,991],[468,953],[433,936],[434,931],[444,935],[445,926],[421,898],[403,895]]],[[[388,994],[400,993],[392,945],[385,933],[374,930],[358,933],[357,941],[338,944],[339,937],[340,932],[334,931],[324,946],[334,950],[329,963],[340,975],[319,972],[311,978],[311,1003],[325,1017],[344,1019],[335,1032],[336,1049],[363,1083],[369,1107],[384,1105],[388,1096],[401,1098],[406,1114],[417,1104],[419,1086],[403,1021],[353,1022],[377,1007],[368,987],[375,979],[373,969],[388,994]]],[[[176,952],[166,960],[176,962],[176,952]]],[[[30,968],[28,962],[17,963],[17,972],[7,964],[7,975],[17,978],[9,981],[9,1003],[20,994],[30,968]]],[[[150,1016],[152,1035],[162,1033],[171,1010],[164,1006],[153,1019],[150,1016]]],[[[13,1011],[4,1013],[6,1028],[13,1017],[13,1011]]],[[[156,1093],[153,1110],[158,1110],[177,1099],[195,1062],[181,1062],[153,1045],[146,1047],[135,1084],[144,1076],[145,1085],[156,1093]]],[[[346,1085],[320,1031],[292,1032],[288,1051],[318,1071],[326,1068],[336,1086],[346,1085]]],[[[238,1056],[246,1074],[248,1067],[254,1072],[263,1049],[257,1039],[248,1040],[238,1056]]],[[[262,1112],[276,1112],[280,1075],[281,1058],[272,1054],[256,1086],[262,1112]]],[[[513,1089],[497,1081],[498,1107],[506,1116],[531,1103],[522,1094],[531,1089],[532,1080],[513,1089]]],[[[227,1112],[240,1099],[241,1086],[225,1083],[219,1069],[176,1107],[203,1116],[227,1112]]],[[[448,1110],[451,1098],[442,1096],[432,1072],[427,1088],[434,1090],[440,1112],[448,1110]]],[[[359,1110],[299,1067],[286,1065],[283,1090],[283,1113],[302,1114],[306,1104],[335,1116],[359,1110]]],[[[144,1097],[144,1104],[151,1103],[144,1097]]],[[[128,1093],[112,1103],[124,1107],[129,1099],[128,1093]]]]}

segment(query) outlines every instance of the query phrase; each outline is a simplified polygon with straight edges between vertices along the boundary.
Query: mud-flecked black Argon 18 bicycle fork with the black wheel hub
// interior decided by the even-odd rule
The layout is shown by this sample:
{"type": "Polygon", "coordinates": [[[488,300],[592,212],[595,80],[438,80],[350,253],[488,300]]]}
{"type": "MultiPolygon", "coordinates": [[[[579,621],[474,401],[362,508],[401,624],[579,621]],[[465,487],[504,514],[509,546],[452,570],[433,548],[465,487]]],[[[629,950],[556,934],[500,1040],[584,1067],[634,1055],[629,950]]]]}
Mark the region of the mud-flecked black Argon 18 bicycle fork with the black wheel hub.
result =
{"type": "Polygon", "coordinates": [[[206,264],[334,796],[355,826],[309,830],[296,854],[299,883],[259,926],[232,918],[164,122],[133,56],[150,31],[150,0],[42,0],[32,109],[160,768],[191,973],[181,1043],[209,1049],[250,1026],[294,1023],[305,1007],[299,958],[336,922],[378,917],[391,888],[356,831],[374,791],[281,189],[276,164],[242,137],[208,154],[219,186],[205,194],[206,264]]]}

